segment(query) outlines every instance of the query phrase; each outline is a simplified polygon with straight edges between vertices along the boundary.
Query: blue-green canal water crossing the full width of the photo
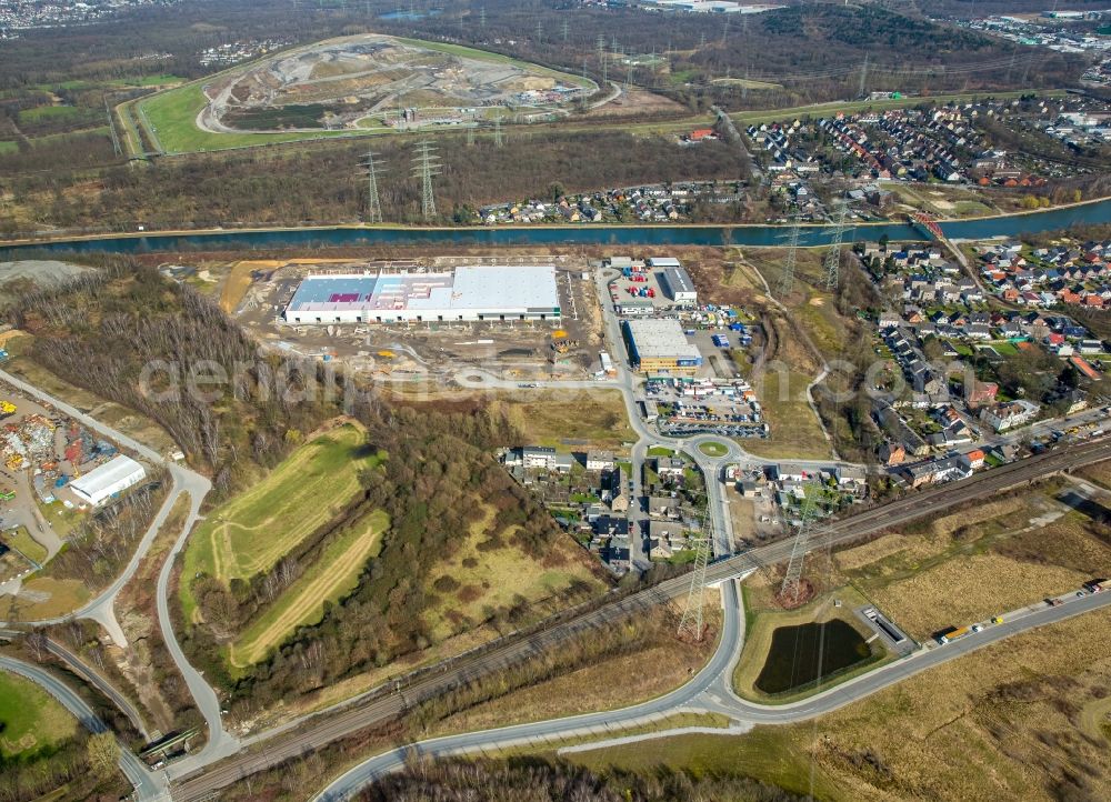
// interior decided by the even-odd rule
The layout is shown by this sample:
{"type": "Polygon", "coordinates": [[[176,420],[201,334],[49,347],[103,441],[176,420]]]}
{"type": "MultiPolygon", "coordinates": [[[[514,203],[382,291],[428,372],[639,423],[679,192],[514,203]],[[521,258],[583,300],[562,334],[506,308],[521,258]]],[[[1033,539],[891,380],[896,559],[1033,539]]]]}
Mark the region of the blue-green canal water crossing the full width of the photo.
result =
{"type": "MultiPolygon", "coordinates": [[[[1111,223],[1111,198],[1035,212],[941,222],[945,237],[982,240],[1054,231],[1070,225],[1111,223]]],[[[376,245],[782,245],[783,225],[568,225],[530,228],[408,228],[318,227],[204,232],[127,233],[0,245],[0,259],[44,253],[274,250],[283,248],[373,248],[376,245]]],[[[845,242],[867,239],[921,240],[907,223],[861,223],[851,227],[845,242]]],[[[823,245],[832,225],[804,225],[800,244],[823,245]]]]}

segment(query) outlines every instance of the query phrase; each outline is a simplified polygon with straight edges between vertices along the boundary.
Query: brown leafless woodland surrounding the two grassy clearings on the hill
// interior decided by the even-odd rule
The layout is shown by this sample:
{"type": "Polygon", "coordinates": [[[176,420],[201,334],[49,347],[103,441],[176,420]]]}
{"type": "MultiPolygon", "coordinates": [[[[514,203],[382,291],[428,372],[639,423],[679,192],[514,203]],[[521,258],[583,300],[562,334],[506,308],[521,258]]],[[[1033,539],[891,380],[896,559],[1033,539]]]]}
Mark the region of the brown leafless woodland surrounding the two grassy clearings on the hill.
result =
{"type": "MultiPolygon", "coordinates": [[[[313,382],[328,378],[323,368],[259,352],[233,321],[191,289],[129,259],[106,258],[101,268],[90,278],[21,294],[7,312],[36,335],[32,359],[170,432],[190,463],[213,477],[210,503],[246,487],[341,412],[366,427],[372,452],[389,454],[380,468],[363,473],[359,499],[309,539],[324,543],[344,521],[381,510],[391,525],[379,555],[349,597],[326,606],[318,624],[301,628],[244,675],[228,675],[219,646],[272,601],[267,578],[230,587],[204,575],[182,579],[193,583],[204,618],[203,624],[179,623],[183,645],[194,664],[243,706],[290,699],[431,645],[436,635],[424,611],[438,603],[450,609],[453,594],[466,590],[433,582],[432,572],[458,551],[466,540],[460,533],[471,530],[480,510],[492,514],[480,552],[508,549],[549,570],[565,564],[567,552],[556,550],[567,545],[560,543],[565,535],[493,458],[496,447],[518,438],[501,414],[388,404],[342,374],[332,378],[333,397],[313,392],[313,382]],[[176,368],[144,373],[151,364],[176,368]],[[171,372],[231,380],[204,382],[203,395],[169,392],[171,372]],[[278,391],[286,382],[297,392],[278,391]]],[[[589,565],[601,575],[593,561],[589,565]]],[[[449,615],[453,631],[512,628],[604,587],[598,579],[584,581],[581,567],[570,568],[563,569],[568,581],[553,584],[541,602],[516,597],[483,608],[478,618],[449,615]]],[[[281,570],[282,564],[274,568],[281,570]]]]}

